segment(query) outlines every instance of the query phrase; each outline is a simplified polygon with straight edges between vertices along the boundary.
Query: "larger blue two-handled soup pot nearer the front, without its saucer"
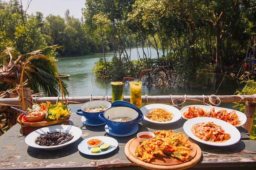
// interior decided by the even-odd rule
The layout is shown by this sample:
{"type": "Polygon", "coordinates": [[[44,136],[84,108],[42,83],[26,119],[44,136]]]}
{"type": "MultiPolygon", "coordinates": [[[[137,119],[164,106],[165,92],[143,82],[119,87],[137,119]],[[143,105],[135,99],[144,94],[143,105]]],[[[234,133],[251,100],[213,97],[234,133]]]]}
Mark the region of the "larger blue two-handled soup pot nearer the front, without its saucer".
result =
{"type": "Polygon", "coordinates": [[[99,119],[106,122],[111,132],[126,134],[133,130],[134,125],[143,121],[143,115],[130,107],[110,107],[99,114],[99,119]]]}

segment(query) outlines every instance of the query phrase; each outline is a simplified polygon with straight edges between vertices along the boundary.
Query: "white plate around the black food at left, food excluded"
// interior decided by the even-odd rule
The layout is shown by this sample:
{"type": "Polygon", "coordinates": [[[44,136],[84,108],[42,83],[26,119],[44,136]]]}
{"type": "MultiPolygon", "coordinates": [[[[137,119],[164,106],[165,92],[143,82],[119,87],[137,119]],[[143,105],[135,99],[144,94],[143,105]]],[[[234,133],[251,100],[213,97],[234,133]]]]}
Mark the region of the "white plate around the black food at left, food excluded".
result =
{"type": "Polygon", "coordinates": [[[71,125],[54,125],[54,126],[48,126],[45,128],[37,129],[31,133],[25,138],[25,143],[33,148],[39,148],[44,150],[56,150],[61,149],[65,147],[68,144],[72,144],[73,142],[77,141],[82,135],[82,130],[78,127],[71,126],[71,125]],[[40,146],[35,143],[35,140],[37,137],[39,137],[41,134],[46,134],[47,132],[65,132],[71,134],[73,137],[72,140],[56,145],[56,146],[40,146]]]}

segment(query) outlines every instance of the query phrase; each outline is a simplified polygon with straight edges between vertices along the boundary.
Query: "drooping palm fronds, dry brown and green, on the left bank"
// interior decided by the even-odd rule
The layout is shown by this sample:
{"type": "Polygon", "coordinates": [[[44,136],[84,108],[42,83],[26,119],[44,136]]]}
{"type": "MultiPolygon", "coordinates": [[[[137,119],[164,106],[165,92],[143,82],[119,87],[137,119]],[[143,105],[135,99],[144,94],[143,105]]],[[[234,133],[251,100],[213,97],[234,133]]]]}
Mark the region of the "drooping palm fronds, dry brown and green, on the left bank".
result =
{"type": "MultiPolygon", "coordinates": [[[[0,53],[0,59],[2,58],[4,61],[4,65],[0,68],[2,71],[1,75],[5,78],[4,81],[1,80],[3,81],[3,85],[6,86],[6,88],[12,88],[14,84],[20,82],[19,79],[22,63],[26,62],[28,57],[38,53],[40,54],[42,52],[50,52],[51,54],[52,51],[47,50],[53,50],[56,48],[60,48],[60,46],[53,45],[32,51],[24,55],[21,55],[18,51],[15,50],[15,48],[6,48],[3,52],[0,53]],[[15,61],[13,62],[14,59],[15,61]]],[[[23,76],[24,80],[27,79],[29,81],[27,86],[30,87],[34,92],[44,92],[45,96],[59,95],[61,87],[58,73],[57,70],[55,70],[52,59],[48,60],[44,57],[33,58],[29,61],[29,63],[26,64],[23,76]]],[[[69,92],[67,90],[67,85],[62,82],[62,87],[64,90],[64,95],[68,95],[69,92]]]]}

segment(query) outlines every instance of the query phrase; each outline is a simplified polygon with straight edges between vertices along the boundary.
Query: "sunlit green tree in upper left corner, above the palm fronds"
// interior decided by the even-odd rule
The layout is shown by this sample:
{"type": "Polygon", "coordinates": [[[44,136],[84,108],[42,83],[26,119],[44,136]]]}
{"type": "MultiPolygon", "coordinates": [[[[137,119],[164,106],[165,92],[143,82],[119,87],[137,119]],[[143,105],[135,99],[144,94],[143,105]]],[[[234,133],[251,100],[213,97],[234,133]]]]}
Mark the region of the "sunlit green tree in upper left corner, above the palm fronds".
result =
{"type": "Polygon", "coordinates": [[[0,51],[6,47],[15,47],[25,54],[47,46],[40,28],[37,28],[38,20],[34,16],[30,16],[26,25],[23,25],[20,11],[18,1],[4,4],[0,9],[0,51]]]}

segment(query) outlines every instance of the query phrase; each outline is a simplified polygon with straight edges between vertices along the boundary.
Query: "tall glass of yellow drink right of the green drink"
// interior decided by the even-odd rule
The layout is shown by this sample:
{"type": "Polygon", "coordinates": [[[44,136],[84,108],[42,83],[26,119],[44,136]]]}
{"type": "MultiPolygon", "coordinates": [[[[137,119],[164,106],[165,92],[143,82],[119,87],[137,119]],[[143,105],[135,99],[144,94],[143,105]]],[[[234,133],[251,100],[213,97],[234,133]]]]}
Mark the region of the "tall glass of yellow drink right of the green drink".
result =
{"type": "Polygon", "coordinates": [[[141,87],[142,81],[129,81],[131,89],[131,99],[130,103],[134,104],[137,107],[141,107],[141,87]]]}

